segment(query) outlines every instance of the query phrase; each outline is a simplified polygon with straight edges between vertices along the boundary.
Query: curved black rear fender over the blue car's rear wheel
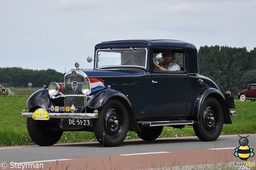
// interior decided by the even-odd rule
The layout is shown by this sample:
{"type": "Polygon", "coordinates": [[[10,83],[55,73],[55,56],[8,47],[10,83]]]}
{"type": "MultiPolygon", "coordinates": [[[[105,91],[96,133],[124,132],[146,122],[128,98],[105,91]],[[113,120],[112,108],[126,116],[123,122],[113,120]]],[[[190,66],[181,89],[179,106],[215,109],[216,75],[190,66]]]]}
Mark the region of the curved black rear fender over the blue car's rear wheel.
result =
{"type": "Polygon", "coordinates": [[[230,118],[228,102],[226,101],[224,95],[222,95],[220,91],[214,88],[203,89],[198,95],[198,97],[195,99],[196,104],[194,108],[194,114],[196,115],[198,123],[200,121],[199,117],[202,109],[202,104],[204,103],[204,100],[209,96],[215,97],[220,102],[220,105],[222,106],[223,116],[224,116],[224,124],[231,124],[232,121],[230,118]]]}

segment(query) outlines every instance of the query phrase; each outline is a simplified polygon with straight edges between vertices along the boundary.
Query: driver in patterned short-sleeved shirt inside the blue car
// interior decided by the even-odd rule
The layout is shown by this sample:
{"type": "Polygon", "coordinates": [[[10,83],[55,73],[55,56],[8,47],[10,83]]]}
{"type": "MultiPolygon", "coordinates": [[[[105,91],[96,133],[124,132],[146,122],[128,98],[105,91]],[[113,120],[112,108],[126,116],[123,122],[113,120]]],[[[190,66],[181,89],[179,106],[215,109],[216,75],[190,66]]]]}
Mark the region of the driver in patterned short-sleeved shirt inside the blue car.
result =
{"type": "Polygon", "coordinates": [[[180,71],[180,66],[177,63],[174,63],[175,54],[171,50],[163,51],[164,62],[159,64],[153,60],[154,70],[158,71],[180,71]]]}

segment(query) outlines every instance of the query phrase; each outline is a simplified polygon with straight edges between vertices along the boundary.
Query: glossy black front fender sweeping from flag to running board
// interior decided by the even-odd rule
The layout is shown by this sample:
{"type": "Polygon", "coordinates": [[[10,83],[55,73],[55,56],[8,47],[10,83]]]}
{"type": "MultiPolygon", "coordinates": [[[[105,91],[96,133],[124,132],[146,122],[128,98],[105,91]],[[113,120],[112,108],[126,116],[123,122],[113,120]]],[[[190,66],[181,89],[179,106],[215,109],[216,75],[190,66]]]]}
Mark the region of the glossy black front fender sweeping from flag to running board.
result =
{"type": "Polygon", "coordinates": [[[140,132],[141,130],[138,127],[137,121],[135,119],[132,105],[127,97],[120,91],[112,89],[100,91],[87,101],[86,107],[90,109],[99,109],[104,106],[110,99],[118,99],[124,103],[129,114],[129,130],[140,132]]]}

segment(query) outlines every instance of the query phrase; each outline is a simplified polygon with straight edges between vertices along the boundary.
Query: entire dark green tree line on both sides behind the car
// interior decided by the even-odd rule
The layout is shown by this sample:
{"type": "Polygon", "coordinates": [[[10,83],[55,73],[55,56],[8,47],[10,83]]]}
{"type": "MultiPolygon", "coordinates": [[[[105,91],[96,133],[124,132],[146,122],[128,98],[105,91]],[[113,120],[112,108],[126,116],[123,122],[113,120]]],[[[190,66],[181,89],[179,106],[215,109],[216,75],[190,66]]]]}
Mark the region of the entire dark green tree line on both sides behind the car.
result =
{"type": "MultiPolygon", "coordinates": [[[[229,90],[233,96],[238,89],[256,83],[256,47],[202,46],[198,49],[199,73],[212,79],[222,93],[229,90]]],[[[52,81],[64,82],[64,73],[54,69],[31,70],[21,67],[0,68],[0,84],[4,87],[42,87],[52,81]]]]}

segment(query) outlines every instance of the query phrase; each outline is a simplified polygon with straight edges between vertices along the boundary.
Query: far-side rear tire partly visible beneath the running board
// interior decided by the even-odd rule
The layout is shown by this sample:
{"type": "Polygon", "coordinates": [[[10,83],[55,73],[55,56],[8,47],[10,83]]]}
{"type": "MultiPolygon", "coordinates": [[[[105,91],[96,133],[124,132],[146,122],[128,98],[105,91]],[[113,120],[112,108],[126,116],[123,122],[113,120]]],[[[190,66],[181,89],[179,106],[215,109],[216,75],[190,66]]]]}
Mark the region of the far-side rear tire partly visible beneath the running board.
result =
{"type": "Polygon", "coordinates": [[[141,132],[136,132],[143,140],[155,140],[160,136],[164,127],[143,127],[141,132]]]}

